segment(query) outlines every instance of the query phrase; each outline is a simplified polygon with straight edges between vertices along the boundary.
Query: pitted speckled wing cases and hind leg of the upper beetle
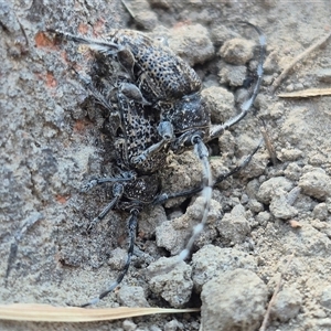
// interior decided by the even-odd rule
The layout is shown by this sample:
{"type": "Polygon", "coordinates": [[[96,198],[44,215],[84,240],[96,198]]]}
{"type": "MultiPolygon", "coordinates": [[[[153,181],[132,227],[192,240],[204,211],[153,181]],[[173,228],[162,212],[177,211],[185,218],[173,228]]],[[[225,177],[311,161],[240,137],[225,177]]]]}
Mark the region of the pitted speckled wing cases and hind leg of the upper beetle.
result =
{"type": "Polygon", "coordinates": [[[87,44],[93,50],[115,57],[130,74],[148,102],[172,102],[194,94],[201,79],[181,57],[167,45],[135,30],[111,30],[103,39],[83,38],[49,29],[61,39],[87,44]]]}

